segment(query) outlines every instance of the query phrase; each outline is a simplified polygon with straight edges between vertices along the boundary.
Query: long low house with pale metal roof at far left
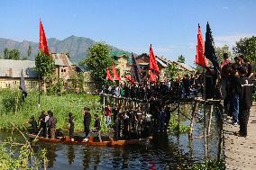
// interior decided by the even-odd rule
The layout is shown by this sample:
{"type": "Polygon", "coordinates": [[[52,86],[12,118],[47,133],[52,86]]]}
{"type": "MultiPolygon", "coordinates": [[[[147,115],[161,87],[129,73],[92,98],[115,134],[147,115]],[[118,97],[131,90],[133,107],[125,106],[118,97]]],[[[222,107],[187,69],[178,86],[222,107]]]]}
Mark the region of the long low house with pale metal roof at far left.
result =
{"type": "Polygon", "coordinates": [[[18,87],[22,70],[26,87],[36,87],[38,75],[34,67],[35,62],[30,60],[0,59],[0,89],[18,87]]]}

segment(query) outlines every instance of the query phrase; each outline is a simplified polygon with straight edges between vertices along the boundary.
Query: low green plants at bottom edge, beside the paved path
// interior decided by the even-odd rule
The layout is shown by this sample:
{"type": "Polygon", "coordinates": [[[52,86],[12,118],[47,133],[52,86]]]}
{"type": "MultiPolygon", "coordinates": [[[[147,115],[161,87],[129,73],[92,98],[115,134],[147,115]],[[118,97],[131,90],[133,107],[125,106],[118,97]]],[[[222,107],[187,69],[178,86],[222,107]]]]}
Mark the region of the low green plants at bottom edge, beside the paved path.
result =
{"type": "Polygon", "coordinates": [[[224,160],[209,160],[206,163],[195,164],[188,168],[189,170],[224,170],[224,160]]]}

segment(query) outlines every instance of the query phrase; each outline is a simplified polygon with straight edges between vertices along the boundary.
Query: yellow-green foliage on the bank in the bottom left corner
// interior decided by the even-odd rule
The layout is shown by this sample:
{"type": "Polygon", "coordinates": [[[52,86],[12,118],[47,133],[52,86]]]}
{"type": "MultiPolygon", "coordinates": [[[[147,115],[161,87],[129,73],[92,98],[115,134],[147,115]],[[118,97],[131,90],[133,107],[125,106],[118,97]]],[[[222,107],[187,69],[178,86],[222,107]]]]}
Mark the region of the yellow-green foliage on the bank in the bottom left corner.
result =
{"type": "Polygon", "coordinates": [[[0,144],[0,169],[36,170],[46,160],[46,150],[36,153],[28,142],[20,144],[10,138],[0,144]]]}

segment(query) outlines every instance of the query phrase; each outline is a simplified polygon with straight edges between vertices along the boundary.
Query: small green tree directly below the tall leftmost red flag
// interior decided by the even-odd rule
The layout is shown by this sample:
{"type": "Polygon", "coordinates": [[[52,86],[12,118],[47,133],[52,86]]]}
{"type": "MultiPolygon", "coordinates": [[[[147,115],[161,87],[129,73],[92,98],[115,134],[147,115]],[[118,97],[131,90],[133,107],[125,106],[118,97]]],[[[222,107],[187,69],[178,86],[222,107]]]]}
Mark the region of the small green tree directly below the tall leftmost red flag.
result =
{"type": "Polygon", "coordinates": [[[35,58],[35,71],[44,79],[51,76],[54,72],[54,59],[50,55],[47,56],[42,51],[39,51],[35,58]]]}

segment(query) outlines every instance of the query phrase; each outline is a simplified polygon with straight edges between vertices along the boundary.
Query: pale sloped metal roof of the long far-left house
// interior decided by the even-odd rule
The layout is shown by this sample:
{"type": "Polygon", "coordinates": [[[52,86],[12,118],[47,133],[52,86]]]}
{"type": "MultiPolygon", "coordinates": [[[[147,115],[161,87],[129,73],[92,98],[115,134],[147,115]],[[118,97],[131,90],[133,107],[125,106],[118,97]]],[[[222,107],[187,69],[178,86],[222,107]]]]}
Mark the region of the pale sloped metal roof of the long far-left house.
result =
{"type": "Polygon", "coordinates": [[[37,73],[33,71],[35,62],[30,60],[0,59],[0,76],[36,78],[37,73]]]}

